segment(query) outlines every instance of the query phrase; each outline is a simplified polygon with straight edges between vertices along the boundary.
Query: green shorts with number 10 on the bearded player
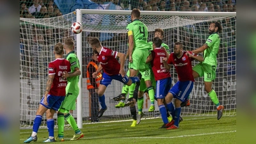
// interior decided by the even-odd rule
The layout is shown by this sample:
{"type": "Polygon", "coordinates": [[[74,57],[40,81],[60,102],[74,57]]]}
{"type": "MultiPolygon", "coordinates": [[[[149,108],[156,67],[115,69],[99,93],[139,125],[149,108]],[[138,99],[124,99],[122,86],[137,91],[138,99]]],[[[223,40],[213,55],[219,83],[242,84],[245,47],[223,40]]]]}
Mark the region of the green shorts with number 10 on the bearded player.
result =
{"type": "Polygon", "coordinates": [[[195,65],[193,70],[195,70],[200,77],[204,76],[205,82],[211,82],[216,77],[216,65],[208,65],[207,63],[201,62],[195,65]]]}

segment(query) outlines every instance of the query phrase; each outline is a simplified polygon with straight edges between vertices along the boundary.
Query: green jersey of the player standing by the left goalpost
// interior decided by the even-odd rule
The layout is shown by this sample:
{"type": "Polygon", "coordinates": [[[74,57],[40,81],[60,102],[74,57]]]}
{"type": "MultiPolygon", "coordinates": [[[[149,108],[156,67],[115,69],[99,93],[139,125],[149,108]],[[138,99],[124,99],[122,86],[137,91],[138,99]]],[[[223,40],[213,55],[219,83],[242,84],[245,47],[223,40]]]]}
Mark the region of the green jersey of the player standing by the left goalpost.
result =
{"type": "MultiPolygon", "coordinates": [[[[66,59],[70,62],[71,72],[74,72],[75,68],[80,68],[79,60],[75,54],[75,51],[71,51],[67,54],[66,59]]],[[[66,87],[66,93],[79,93],[79,76],[68,77],[68,84],[66,87]]]]}

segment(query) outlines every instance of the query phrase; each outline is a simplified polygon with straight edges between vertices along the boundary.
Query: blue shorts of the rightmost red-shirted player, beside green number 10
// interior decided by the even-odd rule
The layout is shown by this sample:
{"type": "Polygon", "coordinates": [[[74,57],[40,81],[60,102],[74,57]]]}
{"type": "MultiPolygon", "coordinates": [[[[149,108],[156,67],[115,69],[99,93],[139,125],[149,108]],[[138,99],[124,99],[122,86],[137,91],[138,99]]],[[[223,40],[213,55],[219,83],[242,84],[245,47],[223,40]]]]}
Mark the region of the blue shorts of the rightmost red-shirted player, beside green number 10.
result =
{"type": "Polygon", "coordinates": [[[193,81],[178,81],[172,89],[169,91],[174,98],[184,102],[188,99],[189,93],[191,93],[194,86],[193,81]]]}

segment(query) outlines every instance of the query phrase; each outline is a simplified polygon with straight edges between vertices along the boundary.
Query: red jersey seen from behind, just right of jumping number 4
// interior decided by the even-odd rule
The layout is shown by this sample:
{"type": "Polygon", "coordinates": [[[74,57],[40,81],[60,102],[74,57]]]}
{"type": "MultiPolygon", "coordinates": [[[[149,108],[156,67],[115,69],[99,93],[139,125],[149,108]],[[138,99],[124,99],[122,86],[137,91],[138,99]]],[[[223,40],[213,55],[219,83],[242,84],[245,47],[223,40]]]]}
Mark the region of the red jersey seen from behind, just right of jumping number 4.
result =
{"type": "Polygon", "coordinates": [[[166,53],[161,48],[156,48],[152,51],[151,66],[156,81],[171,77],[169,70],[164,67],[163,58],[166,58],[166,53]]]}

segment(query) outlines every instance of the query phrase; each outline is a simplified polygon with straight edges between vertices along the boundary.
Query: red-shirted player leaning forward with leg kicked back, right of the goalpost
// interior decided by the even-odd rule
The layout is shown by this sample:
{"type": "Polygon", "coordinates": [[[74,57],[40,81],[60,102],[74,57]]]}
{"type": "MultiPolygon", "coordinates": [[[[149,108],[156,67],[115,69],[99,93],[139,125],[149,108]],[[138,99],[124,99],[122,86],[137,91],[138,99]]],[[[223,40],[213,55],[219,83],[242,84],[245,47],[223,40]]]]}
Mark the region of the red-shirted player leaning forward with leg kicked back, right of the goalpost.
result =
{"type": "Polygon", "coordinates": [[[131,86],[132,83],[140,85],[140,79],[138,77],[128,77],[125,75],[125,54],[121,52],[112,51],[107,47],[102,47],[99,38],[92,38],[89,41],[89,44],[91,45],[94,51],[97,51],[99,53],[98,61],[100,65],[98,70],[96,72],[93,72],[93,77],[96,77],[102,69],[104,71],[98,89],[99,102],[101,106],[98,117],[100,118],[103,115],[103,113],[108,109],[105,104],[104,92],[108,85],[111,84],[111,81],[113,79],[120,81],[124,84],[127,84],[128,86],[131,86]],[[116,58],[120,59],[120,63],[116,60],[116,58]]]}

